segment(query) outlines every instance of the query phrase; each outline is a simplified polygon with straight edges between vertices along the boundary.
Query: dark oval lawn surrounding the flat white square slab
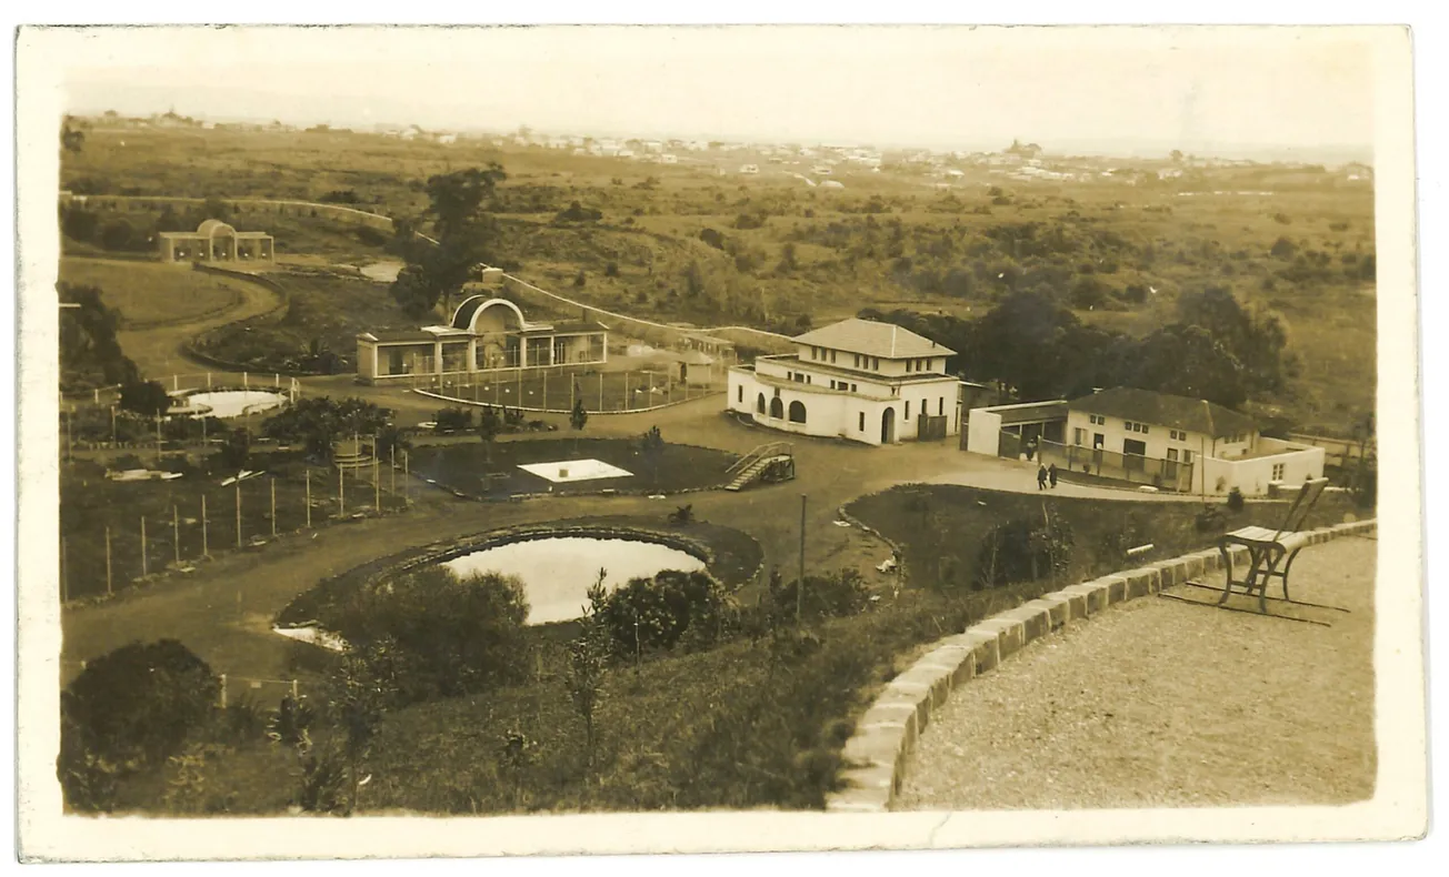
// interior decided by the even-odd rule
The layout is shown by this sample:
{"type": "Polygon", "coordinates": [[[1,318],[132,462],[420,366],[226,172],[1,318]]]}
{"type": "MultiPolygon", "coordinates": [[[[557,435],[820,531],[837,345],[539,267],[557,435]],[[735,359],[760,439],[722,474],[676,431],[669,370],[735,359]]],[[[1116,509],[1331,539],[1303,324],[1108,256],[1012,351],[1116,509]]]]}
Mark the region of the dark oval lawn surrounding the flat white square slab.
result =
{"type": "Polygon", "coordinates": [[[664,493],[716,488],[727,480],[724,472],[738,457],[732,453],[665,444],[655,467],[640,456],[636,440],[630,438],[572,438],[564,433],[558,438],[520,438],[467,444],[435,444],[412,452],[410,463],[416,476],[430,479],[449,491],[475,498],[501,498],[511,493],[598,493],[603,491],[664,493]],[[591,480],[554,483],[522,465],[567,460],[601,460],[632,475],[591,480]],[[485,476],[496,475],[496,479],[485,476]]]}

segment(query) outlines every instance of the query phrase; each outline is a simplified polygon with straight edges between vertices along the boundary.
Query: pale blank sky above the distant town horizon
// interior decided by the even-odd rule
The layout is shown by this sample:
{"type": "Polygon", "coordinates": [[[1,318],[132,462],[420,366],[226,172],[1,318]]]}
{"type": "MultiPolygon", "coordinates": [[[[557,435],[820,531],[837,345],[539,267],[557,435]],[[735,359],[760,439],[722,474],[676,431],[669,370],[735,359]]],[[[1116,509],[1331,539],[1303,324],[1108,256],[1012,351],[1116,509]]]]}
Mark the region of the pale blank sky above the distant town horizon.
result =
{"type": "Polygon", "coordinates": [[[1366,153],[1374,59],[1359,39],[1348,27],[117,29],[84,38],[67,84],[75,111],[296,124],[1366,153]]]}

